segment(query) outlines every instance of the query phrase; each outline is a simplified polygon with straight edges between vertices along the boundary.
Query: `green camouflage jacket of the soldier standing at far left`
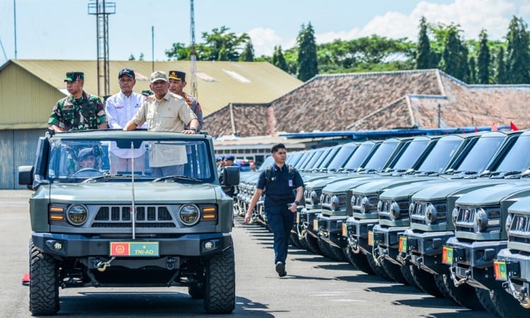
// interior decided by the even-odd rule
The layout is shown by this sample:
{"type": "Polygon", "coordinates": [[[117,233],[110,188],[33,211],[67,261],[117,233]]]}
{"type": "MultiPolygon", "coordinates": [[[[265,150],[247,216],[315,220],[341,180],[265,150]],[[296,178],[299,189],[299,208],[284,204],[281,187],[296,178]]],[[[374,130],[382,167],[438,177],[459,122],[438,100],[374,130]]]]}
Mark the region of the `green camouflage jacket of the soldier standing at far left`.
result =
{"type": "Polygon", "coordinates": [[[66,131],[98,129],[105,122],[105,107],[100,98],[84,91],[83,96],[78,99],[73,99],[72,95],[61,98],[48,120],[48,124],[57,125],[66,131]]]}

